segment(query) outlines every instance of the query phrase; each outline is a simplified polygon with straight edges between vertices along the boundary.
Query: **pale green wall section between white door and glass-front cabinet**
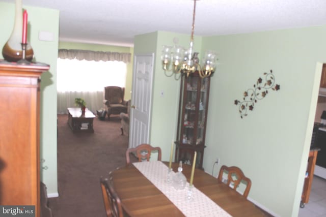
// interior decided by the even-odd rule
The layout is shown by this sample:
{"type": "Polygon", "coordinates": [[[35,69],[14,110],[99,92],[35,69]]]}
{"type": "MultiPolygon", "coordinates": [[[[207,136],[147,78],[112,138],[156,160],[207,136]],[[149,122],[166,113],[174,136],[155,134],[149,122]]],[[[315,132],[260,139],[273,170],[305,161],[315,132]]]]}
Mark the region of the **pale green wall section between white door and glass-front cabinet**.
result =
{"type": "MultiPolygon", "coordinates": [[[[159,31],[134,38],[134,55],[155,54],[149,137],[151,145],[161,147],[163,161],[169,161],[171,143],[176,140],[180,79],[168,77],[162,70],[161,50],[163,45],[172,46],[174,38],[178,39],[178,45],[189,46],[190,36],[185,34],[159,31]]],[[[200,46],[201,37],[195,37],[194,49],[199,51],[200,46]]]]}

